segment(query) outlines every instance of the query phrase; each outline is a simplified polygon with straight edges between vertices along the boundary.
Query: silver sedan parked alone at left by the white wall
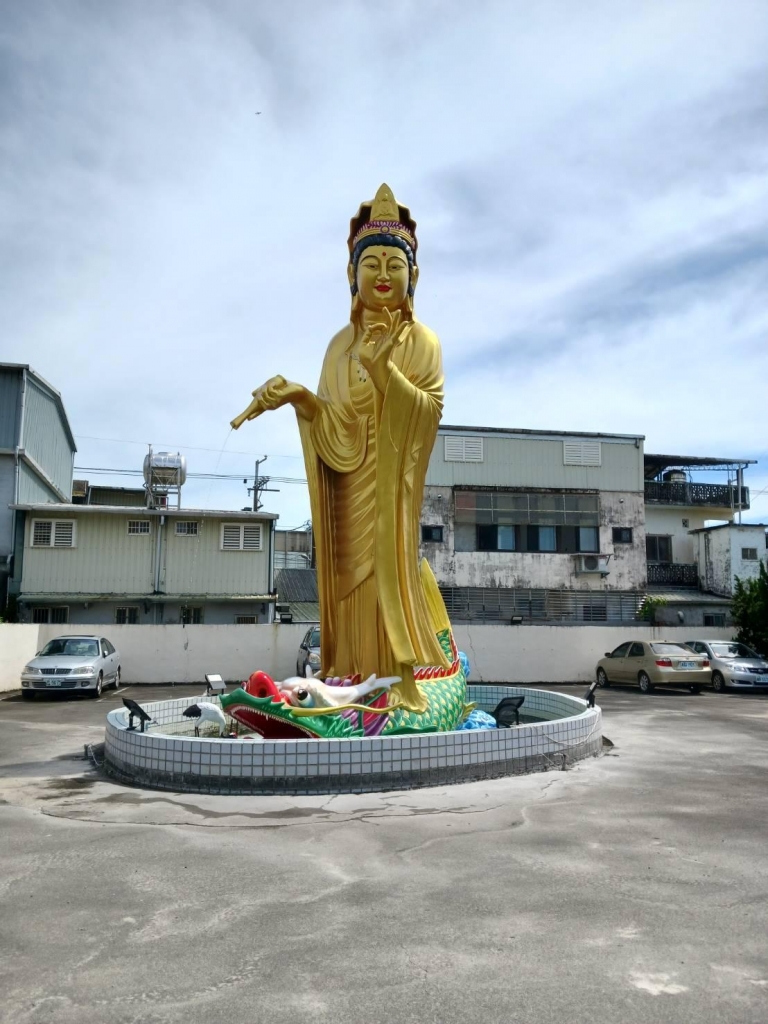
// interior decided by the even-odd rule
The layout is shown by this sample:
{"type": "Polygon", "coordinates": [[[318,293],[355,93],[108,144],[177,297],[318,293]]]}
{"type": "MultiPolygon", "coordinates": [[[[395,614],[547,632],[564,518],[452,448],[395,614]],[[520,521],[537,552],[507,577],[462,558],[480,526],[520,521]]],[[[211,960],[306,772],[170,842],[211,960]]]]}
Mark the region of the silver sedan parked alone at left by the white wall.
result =
{"type": "Polygon", "coordinates": [[[49,640],[22,672],[22,696],[36,690],[86,691],[100,695],[104,686],[120,686],[120,654],[106,637],[68,636],[49,640]]]}

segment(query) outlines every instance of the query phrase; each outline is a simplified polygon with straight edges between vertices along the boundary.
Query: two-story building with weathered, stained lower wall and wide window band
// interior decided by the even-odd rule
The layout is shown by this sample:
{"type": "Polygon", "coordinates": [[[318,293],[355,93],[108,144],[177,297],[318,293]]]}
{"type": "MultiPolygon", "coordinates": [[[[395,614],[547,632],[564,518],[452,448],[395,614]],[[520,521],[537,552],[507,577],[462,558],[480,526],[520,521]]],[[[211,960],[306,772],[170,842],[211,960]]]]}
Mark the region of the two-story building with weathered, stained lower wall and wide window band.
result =
{"type": "Polygon", "coordinates": [[[441,426],[421,540],[455,621],[634,621],[643,437],[441,426]]]}

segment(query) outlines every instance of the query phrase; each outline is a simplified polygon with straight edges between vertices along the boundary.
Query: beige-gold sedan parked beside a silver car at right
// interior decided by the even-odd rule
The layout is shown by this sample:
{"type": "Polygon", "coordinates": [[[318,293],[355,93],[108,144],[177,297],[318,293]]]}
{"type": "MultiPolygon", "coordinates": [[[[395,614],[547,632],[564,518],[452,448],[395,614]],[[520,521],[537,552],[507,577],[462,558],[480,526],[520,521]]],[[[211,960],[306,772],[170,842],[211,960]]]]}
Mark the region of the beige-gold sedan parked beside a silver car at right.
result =
{"type": "Polygon", "coordinates": [[[656,686],[681,686],[700,693],[712,681],[709,659],[680,643],[632,640],[597,663],[597,685],[636,683],[643,693],[656,686]]]}

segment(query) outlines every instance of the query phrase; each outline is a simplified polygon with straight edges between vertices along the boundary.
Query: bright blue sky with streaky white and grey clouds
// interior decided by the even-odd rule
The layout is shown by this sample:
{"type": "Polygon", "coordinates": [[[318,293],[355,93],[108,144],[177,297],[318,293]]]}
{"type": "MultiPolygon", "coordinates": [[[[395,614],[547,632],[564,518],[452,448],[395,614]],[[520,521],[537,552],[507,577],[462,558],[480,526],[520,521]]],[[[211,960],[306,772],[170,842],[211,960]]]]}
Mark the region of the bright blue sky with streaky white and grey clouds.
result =
{"type": "Polygon", "coordinates": [[[444,422],[757,459],[767,521],[767,101],[754,0],[0,0],[0,359],[61,392],[78,467],[178,450],[238,477],[183,504],[236,509],[267,455],[298,526],[292,411],[228,424],[315,387],[386,181],[444,422]]]}

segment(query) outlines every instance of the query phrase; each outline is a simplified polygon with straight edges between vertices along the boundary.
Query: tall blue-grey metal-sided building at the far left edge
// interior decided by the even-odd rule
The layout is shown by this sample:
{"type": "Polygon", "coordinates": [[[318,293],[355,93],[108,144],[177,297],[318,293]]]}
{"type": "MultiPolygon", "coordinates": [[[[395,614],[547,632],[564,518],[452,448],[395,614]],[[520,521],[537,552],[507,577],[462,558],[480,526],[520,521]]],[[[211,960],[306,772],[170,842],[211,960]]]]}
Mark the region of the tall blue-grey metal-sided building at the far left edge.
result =
{"type": "Polygon", "coordinates": [[[25,364],[0,362],[0,613],[14,597],[13,555],[22,550],[12,506],[69,502],[76,451],[58,391],[25,364]]]}

